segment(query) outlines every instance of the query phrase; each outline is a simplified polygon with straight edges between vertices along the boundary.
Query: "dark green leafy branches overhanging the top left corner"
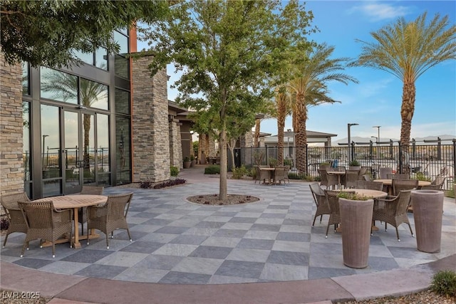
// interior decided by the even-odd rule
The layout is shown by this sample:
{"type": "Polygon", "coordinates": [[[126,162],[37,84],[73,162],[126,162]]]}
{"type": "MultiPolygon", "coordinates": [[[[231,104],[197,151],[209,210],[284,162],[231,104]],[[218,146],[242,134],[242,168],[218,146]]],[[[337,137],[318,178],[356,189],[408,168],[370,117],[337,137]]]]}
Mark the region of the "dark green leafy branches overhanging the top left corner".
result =
{"type": "Polygon", "coordinates": [[[75,51],[103,47],[118,52],[110,37],[133,21],[152,23],[167,12],[167,1],[1,1],[1,52],[9,64],[26,61],[61,67],[79,63],[75,51]]]}

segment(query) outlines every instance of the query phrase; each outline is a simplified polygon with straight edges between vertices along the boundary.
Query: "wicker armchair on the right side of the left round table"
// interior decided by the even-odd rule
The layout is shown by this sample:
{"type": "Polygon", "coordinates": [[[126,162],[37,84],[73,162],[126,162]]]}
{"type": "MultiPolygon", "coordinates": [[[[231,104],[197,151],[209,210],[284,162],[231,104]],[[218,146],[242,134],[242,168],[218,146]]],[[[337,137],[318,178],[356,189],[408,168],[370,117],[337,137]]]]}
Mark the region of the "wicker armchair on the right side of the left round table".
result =
{"type": "Polygon", "coordinates": [[[106,248],[109,249],[109,237],[114,238],[114,230],[121,228],[126,229],[128,238],[130,229],[128,229],[127,214],[133,193],[118,194],[108,196],[108,200],[101,206],[87,207],[87,245],[89,244],[90,229],[98,229],[106,235],[106,248]]]}

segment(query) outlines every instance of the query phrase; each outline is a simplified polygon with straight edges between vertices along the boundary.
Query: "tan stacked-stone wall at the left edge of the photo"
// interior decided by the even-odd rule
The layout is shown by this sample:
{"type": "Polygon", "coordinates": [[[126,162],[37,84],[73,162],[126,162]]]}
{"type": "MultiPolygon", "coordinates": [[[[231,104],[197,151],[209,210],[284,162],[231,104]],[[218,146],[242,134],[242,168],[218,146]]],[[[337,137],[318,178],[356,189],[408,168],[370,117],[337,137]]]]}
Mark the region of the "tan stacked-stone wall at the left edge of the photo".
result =
{"type": "Polygon", "coordinates": [[[24,191],[22,68],[0,55],[0,194],[24,191]]]}

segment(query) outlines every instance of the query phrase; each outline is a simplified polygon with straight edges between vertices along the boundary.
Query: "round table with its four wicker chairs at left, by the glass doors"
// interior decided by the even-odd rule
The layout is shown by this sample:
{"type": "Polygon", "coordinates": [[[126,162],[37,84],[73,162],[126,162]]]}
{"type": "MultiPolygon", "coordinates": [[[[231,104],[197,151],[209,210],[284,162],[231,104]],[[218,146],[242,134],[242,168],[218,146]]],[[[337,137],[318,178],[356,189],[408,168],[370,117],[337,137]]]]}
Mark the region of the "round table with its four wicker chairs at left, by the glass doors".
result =
{"type": "Polygon", "coordinates": [[[52,246],[52,256],[56,256],[56,243],[70,243],[71,248],[81,248],[81,239],[98,238],[95,229],[106,235],[106,248],[109,249],[109,236],[113,238],[115,229],[128,229],[127,214],[133,193],[103,195],[103,187],[83,186],[79,194],[53,196],[31,201],[25,192],[1,196],[9,220],[3,246],[9,234],[26,234],[21,257],[29,248],[29,242],[40,239],[40,247],[52,246]],[[81,235],[79,234],[81,224],[81,235]],[[86,234],[84,234],[86,224],[86,234]]]}

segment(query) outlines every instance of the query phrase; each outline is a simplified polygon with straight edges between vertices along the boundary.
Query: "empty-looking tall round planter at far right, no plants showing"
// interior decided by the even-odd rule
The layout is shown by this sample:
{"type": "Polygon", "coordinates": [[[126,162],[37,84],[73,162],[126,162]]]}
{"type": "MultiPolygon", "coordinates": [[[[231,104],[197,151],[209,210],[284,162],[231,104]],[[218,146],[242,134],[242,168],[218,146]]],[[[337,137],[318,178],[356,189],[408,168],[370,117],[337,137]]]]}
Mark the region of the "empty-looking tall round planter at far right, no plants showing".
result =
{"type": "Polygon", "coordinates": [[[418,250],[440,252],[444,194],[437,190],[413,190],[411,193],[418,250]]]}

